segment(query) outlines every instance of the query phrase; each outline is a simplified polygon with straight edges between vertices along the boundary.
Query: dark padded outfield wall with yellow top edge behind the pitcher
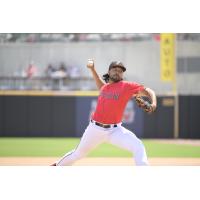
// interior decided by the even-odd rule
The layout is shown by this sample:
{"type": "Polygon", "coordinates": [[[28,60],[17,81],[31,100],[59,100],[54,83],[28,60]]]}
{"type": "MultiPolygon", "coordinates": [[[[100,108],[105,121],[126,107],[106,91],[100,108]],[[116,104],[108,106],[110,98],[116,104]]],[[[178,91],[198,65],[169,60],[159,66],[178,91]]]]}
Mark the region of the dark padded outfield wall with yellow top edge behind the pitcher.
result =
{"type": "MultiPolygon", "coordinates": [[[[97,94],[0,93],[1,137],[80,137],[96,106],[97,94]]],[[[200,138],[200,96],[179,96],[179,137],[200,138]]],[[[141,138],[173,138],[174,97],[158,96],[149,115],[129,101],[124,126],[141,138]]]]}

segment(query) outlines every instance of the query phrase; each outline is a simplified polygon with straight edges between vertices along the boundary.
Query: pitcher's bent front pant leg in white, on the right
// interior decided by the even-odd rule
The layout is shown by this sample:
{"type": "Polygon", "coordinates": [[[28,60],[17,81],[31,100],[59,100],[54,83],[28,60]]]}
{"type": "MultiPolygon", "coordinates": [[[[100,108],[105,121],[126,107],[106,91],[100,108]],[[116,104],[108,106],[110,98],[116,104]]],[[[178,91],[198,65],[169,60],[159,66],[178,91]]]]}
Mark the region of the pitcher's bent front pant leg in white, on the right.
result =
{"type": "Polygon", "coordinates": [[[123,126],[113,129],[108,142],[132,152],[136,165],[148,165],[146,150],[142,141],[123,126]]]}

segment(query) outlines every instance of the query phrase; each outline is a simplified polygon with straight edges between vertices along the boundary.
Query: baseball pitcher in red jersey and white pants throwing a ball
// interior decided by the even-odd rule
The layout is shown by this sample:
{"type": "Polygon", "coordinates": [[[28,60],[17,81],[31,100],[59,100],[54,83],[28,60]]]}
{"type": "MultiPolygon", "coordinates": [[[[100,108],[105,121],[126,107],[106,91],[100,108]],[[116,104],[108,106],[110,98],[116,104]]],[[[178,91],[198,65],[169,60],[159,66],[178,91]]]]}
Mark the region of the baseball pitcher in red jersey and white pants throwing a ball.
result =
{"type": "Polygon", "coordinates": [[[52,166],[72,165],[103,142],[130,151],[134,155],[136,165],[148,165],[143,143],[134,133],[124,128],[121,121],[126,104],[132,97],[145,112],[154,112],[157,105],[155,92],[136,82],[124,81],[126,67],[122,62],[111,62],[103,79],[95,70],[94,60],[88,60],[87,68],[100,90],[96,109],[78,146],[52,166]],[[149,102],[143,98],[144,96],[149,102]]]}

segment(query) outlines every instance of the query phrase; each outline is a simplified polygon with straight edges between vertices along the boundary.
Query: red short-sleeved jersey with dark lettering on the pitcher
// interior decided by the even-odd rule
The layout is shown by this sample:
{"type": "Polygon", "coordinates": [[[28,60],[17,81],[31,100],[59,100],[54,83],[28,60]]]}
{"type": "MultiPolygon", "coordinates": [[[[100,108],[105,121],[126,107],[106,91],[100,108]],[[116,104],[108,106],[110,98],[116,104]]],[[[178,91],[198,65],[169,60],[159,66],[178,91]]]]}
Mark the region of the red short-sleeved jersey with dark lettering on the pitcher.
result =
{"type": "Polygon", "coordinates": [[[92,119],[103,124],[120,123],[129,99],[143,89],[143,85],[127,81],[105,84],[101,87],[92,119]]]}

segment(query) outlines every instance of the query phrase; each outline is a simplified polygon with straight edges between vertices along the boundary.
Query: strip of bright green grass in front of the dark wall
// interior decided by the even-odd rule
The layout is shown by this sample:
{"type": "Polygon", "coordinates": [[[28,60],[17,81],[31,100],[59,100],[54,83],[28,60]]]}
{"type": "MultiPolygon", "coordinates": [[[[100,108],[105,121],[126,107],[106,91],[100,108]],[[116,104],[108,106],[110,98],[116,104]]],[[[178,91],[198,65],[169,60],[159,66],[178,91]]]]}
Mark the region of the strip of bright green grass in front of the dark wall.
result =
{"type": "MultiPolygon", "coordinates": [[[[0,138],[0,157],[62,156],[74,149],[79,138],[0,138]]],[[[143,140],[149,157],[200,157],[200,146],[165,144],[143,140]]],[[[102,144],[90,157],[130,157],[131,153],[110,144],[102,144]]]]}

